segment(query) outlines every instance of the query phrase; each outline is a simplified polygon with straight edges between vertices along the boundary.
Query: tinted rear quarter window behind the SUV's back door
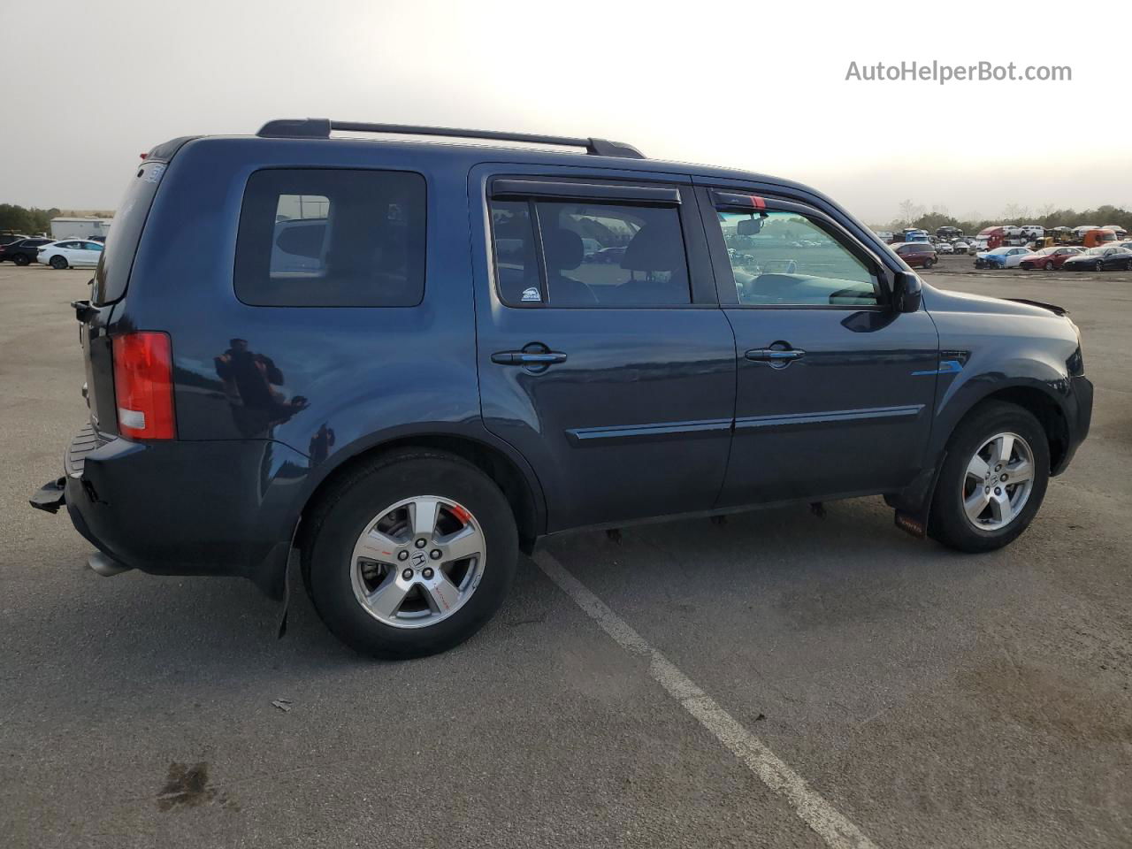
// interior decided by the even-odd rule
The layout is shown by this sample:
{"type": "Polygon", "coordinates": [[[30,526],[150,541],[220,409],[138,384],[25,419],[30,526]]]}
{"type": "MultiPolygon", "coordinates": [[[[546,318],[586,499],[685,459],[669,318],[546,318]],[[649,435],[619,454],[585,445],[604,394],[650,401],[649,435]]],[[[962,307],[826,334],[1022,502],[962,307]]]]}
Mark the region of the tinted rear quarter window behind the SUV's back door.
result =
{"type": "Polygon", "coordinates": [[[265,170],[248,179],[235,294],[264,307],[413,307],[424,297],[424,178],[265,170]]]}

